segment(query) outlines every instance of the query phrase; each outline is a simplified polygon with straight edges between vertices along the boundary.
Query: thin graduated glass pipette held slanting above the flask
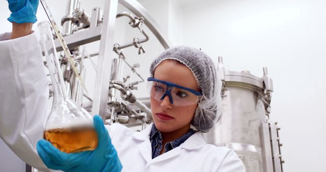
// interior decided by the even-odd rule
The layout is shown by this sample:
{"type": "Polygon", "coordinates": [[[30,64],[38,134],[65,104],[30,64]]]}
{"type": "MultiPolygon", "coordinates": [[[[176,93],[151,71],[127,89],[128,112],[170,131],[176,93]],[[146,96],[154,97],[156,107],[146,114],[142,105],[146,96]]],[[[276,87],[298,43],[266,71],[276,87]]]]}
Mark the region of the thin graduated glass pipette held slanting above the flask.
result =
{"type": "Polygon", "coordinates": [[[70,65],[71,65],[71,67],[72,67],[75,75],[77,76],[79,82],[82,83],[82,86],[83,86],[84,90],[86,91],[86,94],[88,94],[87,93],[87,90],[86,90],[86,87],[85,87],[85,82],[84,82],[82,76],[80,76],[80,73],[79,73],[79,71],[77,69],[77,66],[76,66],[76,64],[75,64],[75,62],[73,60],[73,56],[71,55],[71,53],[70,53],[70,51],[68,49],[68,46],[67,46],[65,40],[63,39],[63,36],[60,33],[60,30],[58,28],[58,25],[57,25],[55,19],[53,18],[52,14],[50,12],[49,7],[45,3],[45,0],[40,0],[40,1],[41,1],[41,4],[42,4],[42,6],[43,6],[43,8],[45,10],[45,13],[47,15],[47,18],[50,20],[50,23],[52,25],[53,30],[55,30],[55,32],[56,32],[56,35],[57,35],[58,40],[59,40],[59,42],[60,42],[60,44],[61,44],[61,46],[63,48],[63,51],[65,52],[65,54],[67,56],[68,62],[70,63],[70,65]]]}

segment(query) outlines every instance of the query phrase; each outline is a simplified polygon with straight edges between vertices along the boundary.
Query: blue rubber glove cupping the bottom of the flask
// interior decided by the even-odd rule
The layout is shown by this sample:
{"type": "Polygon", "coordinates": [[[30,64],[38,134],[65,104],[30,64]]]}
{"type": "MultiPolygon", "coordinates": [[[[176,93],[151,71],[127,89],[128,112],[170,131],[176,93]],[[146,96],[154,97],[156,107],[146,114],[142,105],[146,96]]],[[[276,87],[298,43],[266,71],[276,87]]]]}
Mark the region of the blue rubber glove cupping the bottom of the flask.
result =
{"type": "Polygon", "coordinates": [[[47,140],[41,139],[37,142],[37,152],[44,164],[51,169],[67,172],[121,171],[122,165],[117,151],[98,115],[94,116],[94,127],[98,145],[93,151],[67,154],[59,151],[47,140]]]}

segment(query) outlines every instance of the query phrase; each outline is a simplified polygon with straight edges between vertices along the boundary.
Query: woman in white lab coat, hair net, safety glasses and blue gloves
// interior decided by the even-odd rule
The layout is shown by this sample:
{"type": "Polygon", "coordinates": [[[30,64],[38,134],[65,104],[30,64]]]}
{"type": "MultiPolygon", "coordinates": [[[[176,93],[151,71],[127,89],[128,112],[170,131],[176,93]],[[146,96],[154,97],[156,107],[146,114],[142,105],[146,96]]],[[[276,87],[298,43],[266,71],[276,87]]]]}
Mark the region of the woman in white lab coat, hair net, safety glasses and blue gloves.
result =
{"type": "Polygon", "coordinates": [[[221,112],[214,64],[200,50],[165,50],[150,67],[154,123],[141,132],[94,117],[98,147],[67,154],[42,139],[48,82],[32,32],[38,0],[8,0],[12,33],[0,35],[0,137],[26,163],[63,171],[244,171],[231,150],[206,144],[221,112]],[[193,125],[198,131],[191,129],[193,125]]]}

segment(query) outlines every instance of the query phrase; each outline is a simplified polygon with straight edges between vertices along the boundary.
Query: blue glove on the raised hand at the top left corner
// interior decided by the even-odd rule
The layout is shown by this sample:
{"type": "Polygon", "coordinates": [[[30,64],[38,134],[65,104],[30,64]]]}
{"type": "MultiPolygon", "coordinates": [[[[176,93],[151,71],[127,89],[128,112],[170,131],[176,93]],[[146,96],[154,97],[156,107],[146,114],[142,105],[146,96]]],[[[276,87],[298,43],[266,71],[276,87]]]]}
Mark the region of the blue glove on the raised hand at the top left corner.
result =
{"type": "Polygon", "coordinates": [[[39,0],[7,0],[12,12],[8,21],[15,23],[35,23],[39,0]]]}

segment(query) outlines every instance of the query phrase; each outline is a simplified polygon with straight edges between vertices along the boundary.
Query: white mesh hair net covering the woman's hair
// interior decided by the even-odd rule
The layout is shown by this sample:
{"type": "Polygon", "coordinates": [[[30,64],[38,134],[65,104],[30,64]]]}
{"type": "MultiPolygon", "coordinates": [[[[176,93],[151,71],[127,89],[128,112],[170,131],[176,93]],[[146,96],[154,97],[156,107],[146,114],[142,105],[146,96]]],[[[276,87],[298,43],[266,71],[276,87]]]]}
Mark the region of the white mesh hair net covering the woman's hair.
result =
{"type": "Polygon", "coordinates": [[[176,46],[166,49],[150,67],[153,77],[155,68],[164,60],[173,59],[187,66],[194,74],[203,96],[195,112],[192,125],[199,131],[208,132],[222,112],[221,79],[218,78],[212,59],[204,52],[188,47],[176,46]]]}

